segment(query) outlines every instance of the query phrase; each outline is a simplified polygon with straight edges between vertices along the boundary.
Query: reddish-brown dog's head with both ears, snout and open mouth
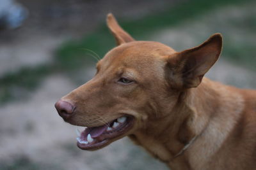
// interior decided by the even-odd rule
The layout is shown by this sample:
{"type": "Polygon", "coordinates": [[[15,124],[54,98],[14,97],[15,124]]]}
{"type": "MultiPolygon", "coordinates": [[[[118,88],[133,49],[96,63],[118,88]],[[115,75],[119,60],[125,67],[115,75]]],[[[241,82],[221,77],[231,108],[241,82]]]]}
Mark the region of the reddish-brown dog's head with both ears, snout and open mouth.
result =
{"type": "Polygon", "coordinates": [[[154,41],[135,41],[107,18],[117,46],[97,63],[97,73],[55,106],[63,119],[87,127],[77,138],[85,150],[102,148],[172,114],[179,93],[197,87],[221,52],[221,35],[182,52],[154,41]]]}

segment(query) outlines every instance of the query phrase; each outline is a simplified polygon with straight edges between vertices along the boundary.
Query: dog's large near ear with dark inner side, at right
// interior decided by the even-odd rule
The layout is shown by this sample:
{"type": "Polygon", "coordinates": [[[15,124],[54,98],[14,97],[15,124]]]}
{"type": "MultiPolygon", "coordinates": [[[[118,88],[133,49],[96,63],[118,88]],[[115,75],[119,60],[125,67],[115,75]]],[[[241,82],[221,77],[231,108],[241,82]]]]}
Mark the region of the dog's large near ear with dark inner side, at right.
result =
{"type": "Polygon", "coordinates": [[[221,34],[213,34],[200,46],[168,57],[171,81],[181,88],[197,87],[205,73],[218,60],[222,48],[221,34]]]}

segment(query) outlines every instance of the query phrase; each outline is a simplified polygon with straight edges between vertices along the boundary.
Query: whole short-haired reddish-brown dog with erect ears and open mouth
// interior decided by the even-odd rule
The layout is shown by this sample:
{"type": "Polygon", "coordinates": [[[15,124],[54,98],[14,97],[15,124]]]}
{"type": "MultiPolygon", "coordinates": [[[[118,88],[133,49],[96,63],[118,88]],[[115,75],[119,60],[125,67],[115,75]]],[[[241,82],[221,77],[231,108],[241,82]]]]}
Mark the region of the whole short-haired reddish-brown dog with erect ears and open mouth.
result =
{"type": "Polygon", "coordinates": [[[111,14],[107,21],[118,46],[55,105],[66,122],[87,127],[79,148],[129,136],[172,169],[256,169],[256,91],[203,78],[221,53],[220,34],[175,52],[135,41],[111,14]]]}

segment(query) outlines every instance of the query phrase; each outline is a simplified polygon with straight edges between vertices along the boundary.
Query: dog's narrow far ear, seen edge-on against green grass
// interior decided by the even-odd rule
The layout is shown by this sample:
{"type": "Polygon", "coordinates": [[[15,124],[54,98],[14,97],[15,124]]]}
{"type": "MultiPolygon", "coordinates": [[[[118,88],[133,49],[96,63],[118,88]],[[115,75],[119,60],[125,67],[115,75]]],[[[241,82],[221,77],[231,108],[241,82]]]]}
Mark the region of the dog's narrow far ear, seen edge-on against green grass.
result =
{"type": "Polygon", "coordinates": [[[125,32],[124,29],[120,27],[120,25],[118,25],[118,22],[116,21],[112,13],[108,14],[107,24],[110,31],[115,36],[117,45],[134,41],[134,39],[127,32],[125,32]]]}

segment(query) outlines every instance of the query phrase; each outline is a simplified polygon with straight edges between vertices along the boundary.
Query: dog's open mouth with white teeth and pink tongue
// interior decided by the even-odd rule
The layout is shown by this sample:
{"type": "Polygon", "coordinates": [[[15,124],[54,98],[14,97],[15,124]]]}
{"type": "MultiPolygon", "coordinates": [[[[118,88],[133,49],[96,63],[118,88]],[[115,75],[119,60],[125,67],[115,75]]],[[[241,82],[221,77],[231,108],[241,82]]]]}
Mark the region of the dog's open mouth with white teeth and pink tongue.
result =
{"type": "Polygon", "coordinates": [[[121,136],[132,127],[133,117],[116,118],[108,124],[98,127],[86,127],[77,131],[77,146],[83,150],[95,150],[108,145],[110,139],[121,136]]]}

